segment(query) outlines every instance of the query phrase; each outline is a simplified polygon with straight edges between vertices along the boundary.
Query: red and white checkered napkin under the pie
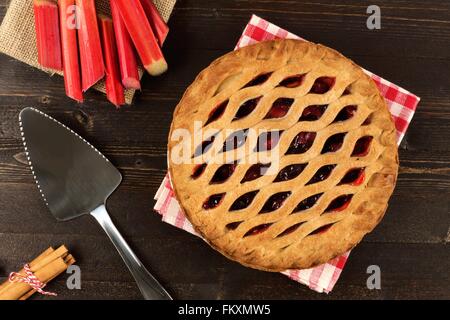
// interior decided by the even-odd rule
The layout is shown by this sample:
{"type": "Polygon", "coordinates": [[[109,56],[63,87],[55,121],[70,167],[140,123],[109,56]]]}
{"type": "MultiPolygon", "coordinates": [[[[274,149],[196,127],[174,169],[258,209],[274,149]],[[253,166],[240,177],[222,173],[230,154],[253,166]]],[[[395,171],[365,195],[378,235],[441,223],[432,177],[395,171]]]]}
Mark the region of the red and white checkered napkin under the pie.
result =
{"type": "MultiPolygon", "coordinates": [[[[236,49],[264,40],[279,38],[301,39],[286,30],[273,25],[258,16],[253,15],[242,34],[236,49]]],[[[414,115],[420,98],[396,86],[395,84],[366,71],[377,84],[384,96],[397,128],[397,140],[400,144],[414,115]]],[[[175,199],[168,176],[164,178],[155,195],[154,209],[162,215],[162,220],[178,228],[184,229],[199,236],[180,209],[175,199]]],[[[282,272],[294,281],[307,285],[317,292],[330,292],[333,290],[350,252],[335,258],[328,263],[312,269],[286,270],[282,272]]]]}

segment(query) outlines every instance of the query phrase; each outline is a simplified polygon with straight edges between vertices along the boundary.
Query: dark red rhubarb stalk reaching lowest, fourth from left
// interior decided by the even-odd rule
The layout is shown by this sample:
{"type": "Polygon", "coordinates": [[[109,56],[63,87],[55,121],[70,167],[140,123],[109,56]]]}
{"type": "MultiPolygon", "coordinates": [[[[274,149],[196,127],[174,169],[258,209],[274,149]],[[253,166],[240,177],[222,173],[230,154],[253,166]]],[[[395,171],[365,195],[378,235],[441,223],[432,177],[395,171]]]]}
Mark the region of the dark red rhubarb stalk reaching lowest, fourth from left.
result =
{"type": "Polygon", "coordinates": [[[119,107],[125,104],[125,96],[120,81],[119,58],[114,38],[113,21],[104,15],[99,15],[99,21],[106,66],[106,96],[116,107],[119,107]]]}

